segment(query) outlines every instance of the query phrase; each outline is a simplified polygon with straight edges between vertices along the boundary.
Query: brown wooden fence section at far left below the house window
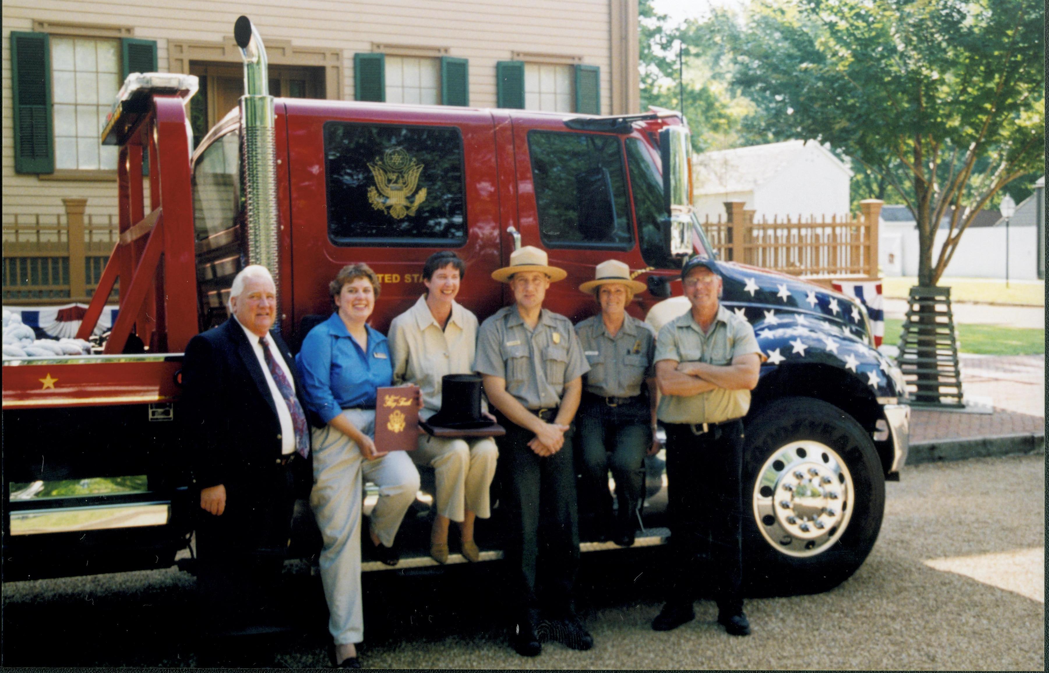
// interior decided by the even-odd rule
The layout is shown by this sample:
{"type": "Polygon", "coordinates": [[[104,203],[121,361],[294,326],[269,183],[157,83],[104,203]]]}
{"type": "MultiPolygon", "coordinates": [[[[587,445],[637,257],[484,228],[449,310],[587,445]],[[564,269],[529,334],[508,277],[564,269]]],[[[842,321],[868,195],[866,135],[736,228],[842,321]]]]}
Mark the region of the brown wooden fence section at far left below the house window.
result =
{"type": "MultiPolygon", "coordinates": [[[[115,215],[85,215],[87,199],[63,199],[63,215],[15,215],[3,222],[3,301],[89,301],[117,238],[115,215]]],[[[115,300],[116,290],[111,297],[115,300]]]]}

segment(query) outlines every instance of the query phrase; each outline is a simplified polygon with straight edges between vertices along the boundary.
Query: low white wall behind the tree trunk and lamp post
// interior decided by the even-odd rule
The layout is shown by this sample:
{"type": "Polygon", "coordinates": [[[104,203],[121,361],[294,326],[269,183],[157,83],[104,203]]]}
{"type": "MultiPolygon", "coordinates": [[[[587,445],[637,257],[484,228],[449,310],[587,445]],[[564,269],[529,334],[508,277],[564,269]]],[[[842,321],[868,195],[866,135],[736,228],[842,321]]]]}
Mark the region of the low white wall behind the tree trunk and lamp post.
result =
{"type": "MultiPolygon", "coordinates": [[[[913,222],[882,222],[879,226],[878,263],[884,276],[918,275],[918,230],[913,222]],[[890,263],[889,255],[898,254],[890,263]]],[[[937,253],[947,232],[937,232],[937,253]]],[[[1005,278],[1005,226],[968,229],[944,272],[947,277],[1005,278]]],[[[936,259],[934,258],[934,263],[936,259]]],[[[1037,280],[1037,230],[1009,224],[1009,278],[1037,280]]]]}

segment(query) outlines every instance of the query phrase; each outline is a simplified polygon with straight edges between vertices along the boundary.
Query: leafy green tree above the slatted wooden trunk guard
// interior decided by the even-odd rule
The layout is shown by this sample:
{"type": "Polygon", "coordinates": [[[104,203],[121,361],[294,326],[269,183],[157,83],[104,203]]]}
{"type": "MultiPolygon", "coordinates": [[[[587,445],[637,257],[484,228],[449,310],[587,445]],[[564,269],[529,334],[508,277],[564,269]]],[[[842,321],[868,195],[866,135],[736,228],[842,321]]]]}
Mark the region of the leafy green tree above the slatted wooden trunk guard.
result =
{"type": "Polygon", "coordinates": [[[934,286],[979,211],[1044,165],[1044,18],[1041,0],[758,0],[734,83],[756,129],[830,143],[900,196],[934,286]]]}

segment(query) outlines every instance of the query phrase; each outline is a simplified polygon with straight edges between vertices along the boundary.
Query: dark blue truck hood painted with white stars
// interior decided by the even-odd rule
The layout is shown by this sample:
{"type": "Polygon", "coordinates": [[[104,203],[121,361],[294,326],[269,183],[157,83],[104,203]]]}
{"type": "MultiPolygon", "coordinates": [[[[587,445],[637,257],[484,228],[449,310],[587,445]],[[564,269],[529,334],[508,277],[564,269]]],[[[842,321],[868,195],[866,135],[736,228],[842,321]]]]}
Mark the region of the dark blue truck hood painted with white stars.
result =
{"type": "MultiPolygon", "coordinates": [[[[768,360],[763,373],[794,364],[853,372],[877,397],[906,396],[899,369],[873,346],[866,310],[851,297],[798,278],[734,262],[718,262],[721,303],[753,326],[768,360]]],[[[684,300],[684,297],[667,301],[684,300]]]]}

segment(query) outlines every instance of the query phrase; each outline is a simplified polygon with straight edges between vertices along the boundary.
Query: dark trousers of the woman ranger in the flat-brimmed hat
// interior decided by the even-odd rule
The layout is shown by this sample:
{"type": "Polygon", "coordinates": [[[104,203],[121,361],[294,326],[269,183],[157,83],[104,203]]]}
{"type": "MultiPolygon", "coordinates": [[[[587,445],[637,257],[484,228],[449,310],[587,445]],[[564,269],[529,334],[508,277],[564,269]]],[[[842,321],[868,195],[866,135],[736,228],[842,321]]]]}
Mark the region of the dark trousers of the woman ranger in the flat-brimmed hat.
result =
{"type": "Polygon", "coordinates": [[[645,395],[609,407],[584,394],[576,415],[579,428],[579,518],[598,528],[612,523],[608,468],[616,479],[620,525],[633,525],[645,482],[645,453],[651,447],[651,416],[645,395]]]}

